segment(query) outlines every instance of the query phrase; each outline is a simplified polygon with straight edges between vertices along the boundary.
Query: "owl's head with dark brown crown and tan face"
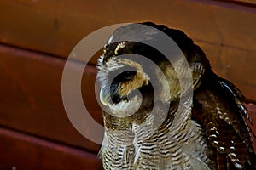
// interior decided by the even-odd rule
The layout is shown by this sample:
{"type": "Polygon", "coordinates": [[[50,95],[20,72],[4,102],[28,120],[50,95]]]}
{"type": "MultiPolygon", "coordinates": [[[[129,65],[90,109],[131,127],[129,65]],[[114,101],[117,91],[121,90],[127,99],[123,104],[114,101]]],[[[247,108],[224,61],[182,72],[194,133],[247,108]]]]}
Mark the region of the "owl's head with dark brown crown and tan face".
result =
{"type": "Polygon", "coordinates": [[[102,105],[112,116],[132,121],[145,116],[155,102],[176,102],[182,95],[180,82],[192,72],[185,64],[207,63],[201,56],[205,55],[183,31],[151,22],[122,26],[109,37],[98,59],[102,105]],[[162,41],[165,36],[171,37],[173,46],[162,41]],[[172,62],[158,47],[171,47],[172,62]]]}

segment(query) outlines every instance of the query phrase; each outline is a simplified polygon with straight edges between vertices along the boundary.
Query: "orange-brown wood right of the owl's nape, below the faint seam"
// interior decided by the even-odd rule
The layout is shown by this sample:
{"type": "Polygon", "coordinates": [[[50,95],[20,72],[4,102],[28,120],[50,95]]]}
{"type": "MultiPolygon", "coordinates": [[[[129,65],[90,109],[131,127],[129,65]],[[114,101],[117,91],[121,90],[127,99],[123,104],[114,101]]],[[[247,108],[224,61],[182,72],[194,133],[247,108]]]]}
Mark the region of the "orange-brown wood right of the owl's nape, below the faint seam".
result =
{"type": "Polygon", "coordinates": [[[218,76],[234,83],[248,99],[256,101],[256,78],[253,74],[256,71],[256,54],[254,52],[204,42],[196,43],[206,52],[212,70],[218,76]]]}

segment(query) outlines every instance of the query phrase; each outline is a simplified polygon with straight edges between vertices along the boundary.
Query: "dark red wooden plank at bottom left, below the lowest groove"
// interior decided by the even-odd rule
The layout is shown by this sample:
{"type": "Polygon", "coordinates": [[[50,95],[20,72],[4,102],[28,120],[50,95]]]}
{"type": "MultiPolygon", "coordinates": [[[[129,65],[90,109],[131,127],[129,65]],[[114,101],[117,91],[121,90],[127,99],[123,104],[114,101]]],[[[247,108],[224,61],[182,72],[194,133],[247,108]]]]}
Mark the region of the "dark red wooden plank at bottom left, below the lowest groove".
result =
{"type": "Polygon", "coordinates": [[[0,127],[0,169],[102,169],[95,154],[0,127]]]}

